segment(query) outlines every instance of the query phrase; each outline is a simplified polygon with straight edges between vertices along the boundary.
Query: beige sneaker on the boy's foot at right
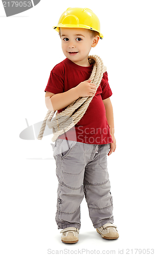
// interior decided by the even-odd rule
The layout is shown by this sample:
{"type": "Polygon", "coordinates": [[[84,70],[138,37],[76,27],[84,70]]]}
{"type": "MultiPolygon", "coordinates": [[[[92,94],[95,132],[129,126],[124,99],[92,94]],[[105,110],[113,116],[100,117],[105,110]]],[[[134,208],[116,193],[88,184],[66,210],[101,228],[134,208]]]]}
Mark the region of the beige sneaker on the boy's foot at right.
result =
{"type": "Polygon", "coordinates": [[[119,238],[119,234],[116,228],[117,226],[115,226],[114,224],[106,223],[103,226],[98,227],[96,230],[99,234],[101,234],[102,238],[113,240],[119,238]]]}

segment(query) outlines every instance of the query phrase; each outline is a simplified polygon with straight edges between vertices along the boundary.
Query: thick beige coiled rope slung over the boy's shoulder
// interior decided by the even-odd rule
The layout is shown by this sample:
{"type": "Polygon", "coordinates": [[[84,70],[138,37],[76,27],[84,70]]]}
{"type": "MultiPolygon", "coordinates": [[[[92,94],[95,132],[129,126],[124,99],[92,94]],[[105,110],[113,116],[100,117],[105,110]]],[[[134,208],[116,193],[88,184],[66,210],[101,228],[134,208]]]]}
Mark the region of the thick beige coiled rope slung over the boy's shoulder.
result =
{"type": "MultiPolygon", "coordinates": [[[[95,61],[90,79],[98,88],[102,80],[103,73],[106,71],[106,67],[103,66],[102,59],[97,55],[90,55],[88,56],[88,59],[91,62],[95,61]]],[[[56,111],[48,111],[45,119],[43,120],[38,140],[42,139],[46,124],[50,129],[53,128],[54,136],[52,141],[55,141],[59,135],[69,131],[82,118],[93,97],[94,96],[79,97],[68,105],[64,111],[60,113],[57,112],[54,118],[53,116],[56,111]]]]}

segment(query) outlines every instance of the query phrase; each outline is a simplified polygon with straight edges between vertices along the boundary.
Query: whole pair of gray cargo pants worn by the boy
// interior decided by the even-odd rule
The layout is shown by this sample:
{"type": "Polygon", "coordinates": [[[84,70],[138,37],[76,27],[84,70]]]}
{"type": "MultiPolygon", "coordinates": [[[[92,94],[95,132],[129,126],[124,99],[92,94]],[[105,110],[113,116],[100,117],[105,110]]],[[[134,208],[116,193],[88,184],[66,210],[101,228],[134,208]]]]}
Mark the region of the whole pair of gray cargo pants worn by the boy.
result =
{"type": "Polygon", "coordinates": [[[110,144],[86,144],[57,138],[53,147],[58,178],[58,229],[80,229],[80,204],[85,196],[95,228],[113,223],[113,198],[107,172],[110,144]]]}

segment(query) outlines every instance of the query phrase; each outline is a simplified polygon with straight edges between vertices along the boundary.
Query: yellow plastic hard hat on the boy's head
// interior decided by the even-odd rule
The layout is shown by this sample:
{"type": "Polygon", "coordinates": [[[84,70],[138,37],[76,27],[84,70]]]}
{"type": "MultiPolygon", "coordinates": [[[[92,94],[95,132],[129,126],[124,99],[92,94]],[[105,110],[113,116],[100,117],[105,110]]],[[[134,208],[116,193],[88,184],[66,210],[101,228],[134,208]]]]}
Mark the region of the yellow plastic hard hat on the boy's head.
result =
{"type": "Polygon", "coordinates": [[[100,21],[96,14],[88,8],[68,8],[60,16],[58,25],[53,28],[57,32],[59,32],[59,28],[90,29],[99,32],[100,38],[103,38],[100,33],[100,21]]]}

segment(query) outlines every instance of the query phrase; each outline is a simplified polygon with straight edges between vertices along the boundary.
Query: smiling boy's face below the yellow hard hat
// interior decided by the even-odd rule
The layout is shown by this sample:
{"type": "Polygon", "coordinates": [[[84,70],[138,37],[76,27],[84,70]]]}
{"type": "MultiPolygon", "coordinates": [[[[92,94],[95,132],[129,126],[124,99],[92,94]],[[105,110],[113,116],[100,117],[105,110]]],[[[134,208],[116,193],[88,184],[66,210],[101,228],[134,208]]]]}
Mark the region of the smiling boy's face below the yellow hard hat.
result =
{"type": "Polygon", "coordinates": [[[91,37],[87,29],[61,28],[61,46],[64,55],[80,66],[90,66],[88,54],[98,43],[99,36],[91,37]]]}

